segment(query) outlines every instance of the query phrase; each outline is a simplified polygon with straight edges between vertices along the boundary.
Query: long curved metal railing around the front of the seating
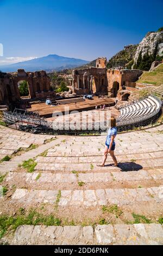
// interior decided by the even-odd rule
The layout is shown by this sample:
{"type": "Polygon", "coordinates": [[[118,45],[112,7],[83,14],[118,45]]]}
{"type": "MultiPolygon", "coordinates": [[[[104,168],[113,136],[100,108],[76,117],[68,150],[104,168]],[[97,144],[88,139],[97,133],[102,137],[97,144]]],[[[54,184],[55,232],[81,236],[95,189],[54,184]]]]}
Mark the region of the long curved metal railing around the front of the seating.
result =
{"type": "MultiPolygon", "coordinates": [[[[155,109],[152,113],[146,114],[144,116],[137,116],[133,118],[129,118],[126,120],[117,120],[117,128],[118,130],[128,130],[133,129],[134,127],[146,126],[149,123],[152,123],[158,118],[160,109],[161,109],[161,100],[151,95],[155,100],[159,103],[159,108],[155,109]]],[[[146,97],[147,98],[147,97],[146,97]]],[[[145,108],[144,108],[145,109],[145,108]]],[[[49,130],[54,130],[54,132],[58,133],[83,133],[83,132],[91,132],[93,130],[96,131],[106,131],[109,128],[109,122],[90,122],[90,123],[59,123],[59,122],[48,122],[45,118],[39,116],[38,113],[35,113],[35,117],[33,116],[33,112],[24,111],[22,114],[21,111],[15,110],[13,113],[8,111],[4,111],[4,121],[8,124],[12,123],[27,123],[32,124],[32,126],[42,126],[43,129],[49,128],[49,130]]]]}

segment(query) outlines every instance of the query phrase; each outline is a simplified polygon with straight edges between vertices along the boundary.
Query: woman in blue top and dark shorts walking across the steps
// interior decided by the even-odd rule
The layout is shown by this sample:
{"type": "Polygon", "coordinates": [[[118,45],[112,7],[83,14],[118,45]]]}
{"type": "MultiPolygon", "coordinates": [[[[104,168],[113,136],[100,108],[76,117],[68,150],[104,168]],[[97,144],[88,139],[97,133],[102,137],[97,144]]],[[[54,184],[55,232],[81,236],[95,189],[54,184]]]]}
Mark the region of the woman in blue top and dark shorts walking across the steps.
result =
{"type": "Polygon", "coordinates": [[[110,153],[110,156],[112,157],[112,160],[114,161],[114,166],[118,166],[117,159],[114,154],[115,150],[115,136],[117,135],[117,128],[116,128],[116,119],[115,117],[111,117],[111,128],[108,130],[108,135],[106,137],[105,142],[105,151],[103,156],[103,162],[102,164],[97,164],[97,166],[105,166],[106,158],[108,156],[108,153],[110,153]]]}

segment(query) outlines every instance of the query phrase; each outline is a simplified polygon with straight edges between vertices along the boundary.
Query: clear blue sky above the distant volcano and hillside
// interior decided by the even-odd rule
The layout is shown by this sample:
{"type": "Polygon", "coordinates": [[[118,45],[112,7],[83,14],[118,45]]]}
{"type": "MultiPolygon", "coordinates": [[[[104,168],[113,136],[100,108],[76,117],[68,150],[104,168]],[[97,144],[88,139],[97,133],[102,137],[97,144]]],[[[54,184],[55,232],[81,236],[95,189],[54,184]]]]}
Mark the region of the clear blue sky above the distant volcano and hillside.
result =
{"type": "Polygon", "coordinates": [[[57,54],[110,58],[163,26],[163,0],[0,0],[0,65],[57,54]]]}

